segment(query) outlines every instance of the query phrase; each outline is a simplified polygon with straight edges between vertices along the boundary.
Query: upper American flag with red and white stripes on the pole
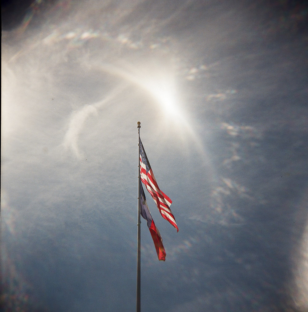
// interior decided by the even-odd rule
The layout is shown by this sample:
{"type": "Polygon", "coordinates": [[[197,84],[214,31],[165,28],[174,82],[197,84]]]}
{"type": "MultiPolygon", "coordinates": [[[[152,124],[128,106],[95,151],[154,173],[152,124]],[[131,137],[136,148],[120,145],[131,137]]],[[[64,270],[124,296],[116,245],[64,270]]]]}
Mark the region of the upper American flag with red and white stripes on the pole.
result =
{"type": "Polygon", "coordinates": [[[156,206],[158,207],[162,217],[168,220],[179,232],[179,228],[176,225],[174,215],[172,214],[169,208],[172,201],[166,194],[164,194],[159,189],[140,138],[139,138],[139,157],[140,157],[140,179],[142,183],[144,183],[147,190],[153,197],[154,202],[156,203],[156,206]]]}

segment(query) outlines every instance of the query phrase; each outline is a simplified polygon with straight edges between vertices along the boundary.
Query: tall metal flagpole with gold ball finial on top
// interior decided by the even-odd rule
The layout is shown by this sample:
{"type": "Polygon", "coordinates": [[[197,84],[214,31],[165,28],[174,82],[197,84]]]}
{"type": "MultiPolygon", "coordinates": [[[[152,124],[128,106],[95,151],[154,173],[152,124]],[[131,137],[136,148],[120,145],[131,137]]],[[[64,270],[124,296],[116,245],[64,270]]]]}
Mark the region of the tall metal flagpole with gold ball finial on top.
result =
{"type": "Polygon", "coordinates": [[[139,155],[139,142],[140,142],[140,121],[138,121],[138,232],[137,232],[137,295],[136,295],[136,312],[140,312],[140,214],[141,214],[141,190],[140,190],[140,155],[139,155]]]}

